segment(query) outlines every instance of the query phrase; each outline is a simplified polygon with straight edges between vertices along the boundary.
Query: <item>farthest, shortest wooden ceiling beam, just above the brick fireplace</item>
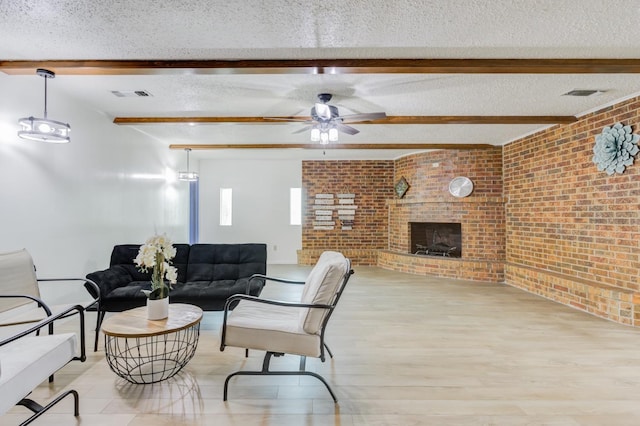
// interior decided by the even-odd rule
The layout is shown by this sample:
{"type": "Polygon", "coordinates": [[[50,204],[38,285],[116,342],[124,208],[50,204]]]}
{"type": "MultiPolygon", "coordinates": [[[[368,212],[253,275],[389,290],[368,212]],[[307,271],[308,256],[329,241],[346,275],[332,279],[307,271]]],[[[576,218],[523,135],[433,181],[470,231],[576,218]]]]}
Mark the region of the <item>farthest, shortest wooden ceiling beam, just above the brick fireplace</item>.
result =
{"type": "Polygon", "coordinates": [[[487,149],[495,148],[489,144],[469,143],[264,143],[264,144],[172,144],[169,149],[487,149]]]}

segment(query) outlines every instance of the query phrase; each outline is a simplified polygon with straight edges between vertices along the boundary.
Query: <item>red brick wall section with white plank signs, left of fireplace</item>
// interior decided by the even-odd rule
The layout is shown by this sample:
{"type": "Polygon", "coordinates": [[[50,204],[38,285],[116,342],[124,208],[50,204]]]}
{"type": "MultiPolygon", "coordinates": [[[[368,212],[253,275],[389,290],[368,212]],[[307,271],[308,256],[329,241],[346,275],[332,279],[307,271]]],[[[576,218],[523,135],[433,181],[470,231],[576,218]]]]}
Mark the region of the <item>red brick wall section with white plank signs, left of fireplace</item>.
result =
{"type": "Polygon", "coordinates": [[[377,250],[388,245],[387,200],[393,198],[393,161],[303,161],[302,250],[298,263],[314,264],[324,250],[342,251],[355,265],[375,265],[377,250]],[[356,195],[353,229],[313,229],[318,193],[356,195]]]}

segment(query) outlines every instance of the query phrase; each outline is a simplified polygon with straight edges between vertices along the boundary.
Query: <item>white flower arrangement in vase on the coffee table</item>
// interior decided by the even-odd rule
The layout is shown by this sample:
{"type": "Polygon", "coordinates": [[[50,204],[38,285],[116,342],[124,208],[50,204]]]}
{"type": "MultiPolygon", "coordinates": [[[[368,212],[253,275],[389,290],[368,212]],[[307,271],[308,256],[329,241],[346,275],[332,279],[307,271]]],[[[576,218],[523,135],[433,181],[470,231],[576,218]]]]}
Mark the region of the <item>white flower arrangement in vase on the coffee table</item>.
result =
{"type": "Polygon", "coordinates": [[[178,280],[178,270],[171,266],[171,259],[176,255],[176,248],[166,235],[154,235],[149,238],[138,250],[138,255],[133,260],[140,271],[147,272],[152,268],[151,290],[142,290],[151,300],[169,297],[171,284],[178,280]],[[169,281],[169,285],[165,282],[169,281]]]}

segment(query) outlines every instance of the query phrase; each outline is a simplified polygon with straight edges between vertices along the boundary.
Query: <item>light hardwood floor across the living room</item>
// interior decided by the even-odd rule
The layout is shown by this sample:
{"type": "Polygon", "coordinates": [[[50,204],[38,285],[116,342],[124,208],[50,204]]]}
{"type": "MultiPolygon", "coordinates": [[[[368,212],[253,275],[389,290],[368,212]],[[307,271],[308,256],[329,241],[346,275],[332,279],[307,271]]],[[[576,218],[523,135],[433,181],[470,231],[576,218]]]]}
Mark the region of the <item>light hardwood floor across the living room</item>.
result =
{"type": "MultiPolygon", "coordinates": [[[[614,324],[521,290],[355,267],[329,325],[335,358],[307,361],[321,384],[295,377],[233,379],[259,369],[236,348],[219,350],[219,312],[205,313],[196,356],[172,379],[132,385],[102,352],[72,363],[33,394],[80,393],[81,416],[64,401],[42,425],[639,425],[640,330],[614,324]]],[[[270,266],[304,277],[308,268],[270,266]]],[[[299,287],[270,284],[265,296],[295,298],[299,287]]],[[[88,315],[93,324],[94,314],[88,315]]],[[[64,324],[63,327],[67,327],[64,324]]],[[[93,340],[93,332],[87,335],[93,340]]],[[[88,344],[91,347],[91,344],[88,344]]],[[[101,345],[102,350],[102,345],[101,345]]],[[[295,368],[298,358],[274,365],[295,368]]],[[[26,417],[16,407],[0,417],[26,417]]]]}

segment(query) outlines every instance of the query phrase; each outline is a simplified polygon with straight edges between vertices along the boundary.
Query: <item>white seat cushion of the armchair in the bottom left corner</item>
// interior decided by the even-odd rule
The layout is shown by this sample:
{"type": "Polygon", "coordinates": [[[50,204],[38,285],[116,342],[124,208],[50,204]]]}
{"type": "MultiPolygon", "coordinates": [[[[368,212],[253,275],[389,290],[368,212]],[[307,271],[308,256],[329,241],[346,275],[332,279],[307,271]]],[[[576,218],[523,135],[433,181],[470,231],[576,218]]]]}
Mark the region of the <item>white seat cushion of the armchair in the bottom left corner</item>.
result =
{"type": "Polygon", "coordinates": [[[66,365],[76,353],[75,333],[28,336],[0,347],[0,414],[66,365]]]}

